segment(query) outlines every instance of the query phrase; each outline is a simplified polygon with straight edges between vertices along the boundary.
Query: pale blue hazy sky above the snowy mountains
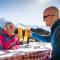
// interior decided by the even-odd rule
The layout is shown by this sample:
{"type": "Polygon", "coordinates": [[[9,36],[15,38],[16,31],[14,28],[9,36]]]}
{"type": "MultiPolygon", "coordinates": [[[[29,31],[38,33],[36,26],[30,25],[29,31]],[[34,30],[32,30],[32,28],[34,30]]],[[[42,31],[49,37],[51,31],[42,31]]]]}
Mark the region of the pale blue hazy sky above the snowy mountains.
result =
{"type": "Polygon", "coordinates": [[[43,11],[52,5],[60,10],[60,0],[0,0],[0,16],[14,24],[43,26],[43,11]]]}

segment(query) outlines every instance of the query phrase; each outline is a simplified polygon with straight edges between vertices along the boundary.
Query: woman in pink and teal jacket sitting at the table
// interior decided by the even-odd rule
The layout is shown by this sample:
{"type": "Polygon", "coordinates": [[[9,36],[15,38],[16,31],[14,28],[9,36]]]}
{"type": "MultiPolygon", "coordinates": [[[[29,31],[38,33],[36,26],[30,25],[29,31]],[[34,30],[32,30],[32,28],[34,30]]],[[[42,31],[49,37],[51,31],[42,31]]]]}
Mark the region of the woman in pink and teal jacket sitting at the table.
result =
{"type": "Polygon", "coordinates": [[[18,38],[14,34],[14,24],[7,22],[0,35],[0,49],[20,48],[18,38]]]}

